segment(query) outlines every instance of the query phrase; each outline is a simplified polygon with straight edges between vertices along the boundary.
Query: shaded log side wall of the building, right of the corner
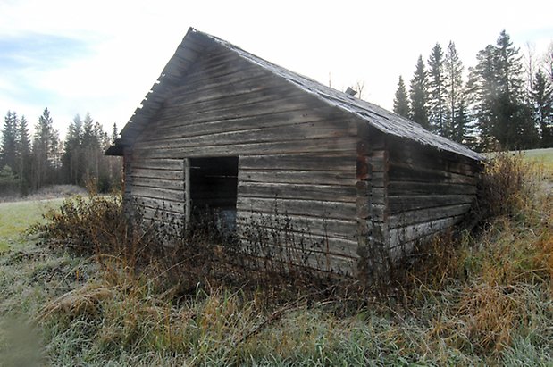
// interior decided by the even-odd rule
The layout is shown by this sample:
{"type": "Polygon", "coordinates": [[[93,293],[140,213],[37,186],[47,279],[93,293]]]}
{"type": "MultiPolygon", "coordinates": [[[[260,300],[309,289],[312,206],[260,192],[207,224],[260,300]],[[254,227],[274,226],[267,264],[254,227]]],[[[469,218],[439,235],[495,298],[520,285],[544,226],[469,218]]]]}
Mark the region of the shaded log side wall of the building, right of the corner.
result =
{"type": "Polygon", "coordinates": [[[458,154],[388,138],[387,237],[392,260],[415,241],[464,218],[476,194],[478,163],[458,154]]]}

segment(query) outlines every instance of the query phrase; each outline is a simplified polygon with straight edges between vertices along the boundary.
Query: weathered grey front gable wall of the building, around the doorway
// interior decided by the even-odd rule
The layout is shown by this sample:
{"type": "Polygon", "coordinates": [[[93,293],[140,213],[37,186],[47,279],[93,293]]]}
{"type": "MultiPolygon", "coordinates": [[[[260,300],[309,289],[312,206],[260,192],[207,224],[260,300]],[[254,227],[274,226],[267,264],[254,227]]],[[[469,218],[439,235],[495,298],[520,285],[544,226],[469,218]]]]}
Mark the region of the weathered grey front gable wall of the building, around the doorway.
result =
{"type": "Polygon", "coordinates": [[[239,233],[285,218],[291,232],[324,244],[314,249],[328,255],[323,271],[351,275],[358,140],[357,122],[335,108],[236,54],[212,50],[197,57],[134,141],[129,195],[148,215],[163,203],[165,213],[184,220],[188,160],[239,157],[239,233]]]}

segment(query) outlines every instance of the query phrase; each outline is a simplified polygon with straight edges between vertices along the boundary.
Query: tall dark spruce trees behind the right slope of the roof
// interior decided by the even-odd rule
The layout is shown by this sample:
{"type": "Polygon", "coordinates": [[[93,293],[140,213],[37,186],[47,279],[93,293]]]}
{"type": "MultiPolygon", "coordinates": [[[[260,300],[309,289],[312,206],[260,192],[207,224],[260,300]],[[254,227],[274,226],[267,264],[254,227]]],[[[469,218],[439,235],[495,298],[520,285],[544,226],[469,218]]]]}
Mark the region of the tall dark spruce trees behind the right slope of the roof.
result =
{"type": "Polygon", "coordinates": [[[480,151],[553,146],[553,44],[526,64],[505,30],[463,65],[454,42],[420,55],[409,89],[400,76],[394,112],[480,151]]]}

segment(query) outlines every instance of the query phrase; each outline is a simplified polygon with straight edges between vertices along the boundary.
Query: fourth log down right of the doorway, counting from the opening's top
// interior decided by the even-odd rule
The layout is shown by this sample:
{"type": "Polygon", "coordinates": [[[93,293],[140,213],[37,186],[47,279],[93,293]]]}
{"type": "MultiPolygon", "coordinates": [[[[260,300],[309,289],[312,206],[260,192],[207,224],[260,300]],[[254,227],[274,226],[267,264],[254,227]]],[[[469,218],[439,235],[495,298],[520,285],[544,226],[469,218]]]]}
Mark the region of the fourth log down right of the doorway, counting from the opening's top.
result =
{"type": "Polygon", "coordinates": [[[304,215],[326,220],[356,219],[356,203],[239,197],[237,209],[242,212],[304,215]]]}

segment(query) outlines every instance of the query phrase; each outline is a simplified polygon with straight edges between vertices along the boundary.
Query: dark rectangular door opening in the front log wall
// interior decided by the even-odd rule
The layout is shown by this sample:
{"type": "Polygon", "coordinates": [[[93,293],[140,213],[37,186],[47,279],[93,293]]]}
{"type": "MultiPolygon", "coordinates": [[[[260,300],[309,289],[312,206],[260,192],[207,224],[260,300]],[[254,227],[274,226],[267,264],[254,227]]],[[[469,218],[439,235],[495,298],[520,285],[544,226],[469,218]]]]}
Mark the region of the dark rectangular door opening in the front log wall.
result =
{"type": "Polygon", "coordinates": [[[218,225],[236,228],[238,157],[190,158],[189,205],[191,218],[214,215],[218,225]]]}

